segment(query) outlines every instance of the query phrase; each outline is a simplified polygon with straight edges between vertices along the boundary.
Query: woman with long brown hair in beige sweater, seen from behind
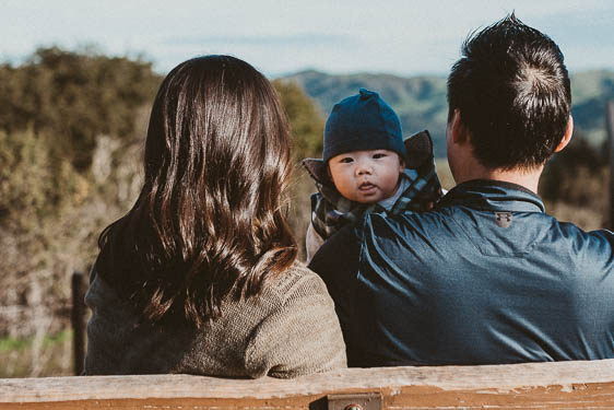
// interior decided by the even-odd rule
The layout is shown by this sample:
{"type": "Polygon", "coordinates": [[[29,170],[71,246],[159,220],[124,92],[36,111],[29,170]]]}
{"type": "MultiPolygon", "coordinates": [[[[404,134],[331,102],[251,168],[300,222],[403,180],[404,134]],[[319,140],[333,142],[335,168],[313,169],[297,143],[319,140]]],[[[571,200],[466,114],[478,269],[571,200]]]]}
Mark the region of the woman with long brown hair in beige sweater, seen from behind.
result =
{"type": "Polygon", "coordinates": [[[206,56],[170,71],[141,194],[98,241],[86,374],[294,377],[345,365],[326,286],[295,260],[288,136],[274,89],[245,61],[206,56]]]}

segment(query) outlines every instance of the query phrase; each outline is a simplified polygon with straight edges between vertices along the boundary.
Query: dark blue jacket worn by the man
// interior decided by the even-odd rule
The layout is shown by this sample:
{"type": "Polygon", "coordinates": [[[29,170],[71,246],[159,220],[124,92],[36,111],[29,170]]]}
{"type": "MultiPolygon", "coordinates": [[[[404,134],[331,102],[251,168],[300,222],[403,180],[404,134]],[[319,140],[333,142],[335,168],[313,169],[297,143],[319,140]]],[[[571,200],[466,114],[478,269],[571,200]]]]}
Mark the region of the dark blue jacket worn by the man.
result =
{"type": "Polygon", "coordinates": [[[352,366],[612,359],[613,245],[520,186],[474,180],[427,213],[366,215],[309,267],[352,366]]]}

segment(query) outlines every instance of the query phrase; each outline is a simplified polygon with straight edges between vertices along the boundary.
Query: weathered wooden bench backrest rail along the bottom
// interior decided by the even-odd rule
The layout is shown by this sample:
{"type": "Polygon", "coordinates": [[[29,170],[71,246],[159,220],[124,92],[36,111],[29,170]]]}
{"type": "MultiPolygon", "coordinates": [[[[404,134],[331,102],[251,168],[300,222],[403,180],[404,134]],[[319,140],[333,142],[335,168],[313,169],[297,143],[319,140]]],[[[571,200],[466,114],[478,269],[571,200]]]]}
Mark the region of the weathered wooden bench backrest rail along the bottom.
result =
{"type": "Polygon", "coordinates": [[[614,409],[614,359],[346,368],[296,379],[190,375],[0,379],[0,409],[614,409]]]}

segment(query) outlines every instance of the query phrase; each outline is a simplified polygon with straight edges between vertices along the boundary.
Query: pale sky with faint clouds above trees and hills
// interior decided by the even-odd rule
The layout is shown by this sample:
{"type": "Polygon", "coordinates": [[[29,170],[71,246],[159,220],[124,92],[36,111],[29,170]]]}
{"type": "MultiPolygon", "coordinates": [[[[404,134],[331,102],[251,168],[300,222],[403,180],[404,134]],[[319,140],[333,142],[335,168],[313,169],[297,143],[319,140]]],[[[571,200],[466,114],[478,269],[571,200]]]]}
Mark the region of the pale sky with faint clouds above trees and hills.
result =
{"type": "Polygon", "coordinates": [[[0,60],[95,45],[142,56],[161,73],[229,54],[269,77],[446,74],[470,32],[512,10],[559,45],[571,72],[614,69],[612,0],[0,0],[0,60]]]}

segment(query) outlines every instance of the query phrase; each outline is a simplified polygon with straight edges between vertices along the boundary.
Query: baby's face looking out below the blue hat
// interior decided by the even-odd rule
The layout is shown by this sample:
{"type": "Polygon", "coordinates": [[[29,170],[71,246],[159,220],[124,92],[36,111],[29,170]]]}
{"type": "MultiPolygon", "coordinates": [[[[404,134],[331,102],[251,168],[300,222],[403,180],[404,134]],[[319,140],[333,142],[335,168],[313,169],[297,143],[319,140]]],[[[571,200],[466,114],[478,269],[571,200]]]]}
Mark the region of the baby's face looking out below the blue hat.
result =
{"type": "Polygon", "coordinates": [[[333,156],[329,160],[329,169],[343,197],[375,203],[394,195],[404,165],[394,151],[366,150],[333,156]]]}

